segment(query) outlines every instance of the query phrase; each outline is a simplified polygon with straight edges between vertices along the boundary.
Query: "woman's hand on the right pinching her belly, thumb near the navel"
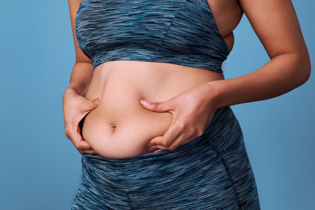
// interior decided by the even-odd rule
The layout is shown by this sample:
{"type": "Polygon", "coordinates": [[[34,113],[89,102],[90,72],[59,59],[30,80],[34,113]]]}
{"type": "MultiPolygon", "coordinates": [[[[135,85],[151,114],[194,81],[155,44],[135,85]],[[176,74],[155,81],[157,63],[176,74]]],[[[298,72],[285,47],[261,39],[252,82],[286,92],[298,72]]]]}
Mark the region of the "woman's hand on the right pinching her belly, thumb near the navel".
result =
{"type": "Polygon", "coordinates": [[[163,136],[151,139],[147,144],[147,151],[175,150],[178,146],[202,136],[219,108],[216,96],[215,88],[204,83],[167,101],[141,100],[141,104],[150,111],[168,111],[173,115],[169,129],[163,136]]]}

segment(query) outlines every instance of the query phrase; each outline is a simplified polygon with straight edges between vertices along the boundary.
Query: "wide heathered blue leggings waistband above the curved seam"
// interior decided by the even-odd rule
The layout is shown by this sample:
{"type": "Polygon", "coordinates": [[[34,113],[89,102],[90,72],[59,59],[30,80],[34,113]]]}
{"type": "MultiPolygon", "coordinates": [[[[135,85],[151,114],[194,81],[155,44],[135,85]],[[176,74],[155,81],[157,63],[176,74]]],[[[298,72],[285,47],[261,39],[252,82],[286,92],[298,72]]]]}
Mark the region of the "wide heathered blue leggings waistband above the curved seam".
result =
{"type": "Polygon", "coordinates": [[[107,190],[157,189],[198,172],[242,142],[243,133],[231,107],[220,107],[202,136],[175,150],[123,159],[82,154],[82,175],[107,190]]]}

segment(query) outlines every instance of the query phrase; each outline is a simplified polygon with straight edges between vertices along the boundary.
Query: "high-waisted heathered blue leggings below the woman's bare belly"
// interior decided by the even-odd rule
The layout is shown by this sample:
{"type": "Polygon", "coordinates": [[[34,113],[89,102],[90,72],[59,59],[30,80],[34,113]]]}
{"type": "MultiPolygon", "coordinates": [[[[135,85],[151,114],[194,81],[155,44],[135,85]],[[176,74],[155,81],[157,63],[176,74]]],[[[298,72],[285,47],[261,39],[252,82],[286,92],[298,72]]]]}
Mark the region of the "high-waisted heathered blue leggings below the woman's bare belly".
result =
{"type": "Polygon", "coordinates": [[[202,136],[175,150],[124,159],[82,154],[70,209],[260,209],[231,107],[219,108],[202,136]]]}

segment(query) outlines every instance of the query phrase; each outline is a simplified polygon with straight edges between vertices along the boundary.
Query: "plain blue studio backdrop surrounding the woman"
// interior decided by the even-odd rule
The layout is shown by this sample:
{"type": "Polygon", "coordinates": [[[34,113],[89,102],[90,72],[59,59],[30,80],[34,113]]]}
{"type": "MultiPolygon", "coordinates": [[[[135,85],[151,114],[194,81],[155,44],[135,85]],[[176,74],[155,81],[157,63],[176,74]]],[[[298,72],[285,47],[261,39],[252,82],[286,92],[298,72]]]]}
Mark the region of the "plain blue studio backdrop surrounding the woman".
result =
{"type": "MultiPolygon", "coordinates": [[[[315,3],[293,4],[314,64],[315,3]]],[[[81,155],[65,136],[62,110],[75,62],[68,2],[2,1],[0,23],[1,209],[69,209],[81,181],[81,155]]],[[[245,14],[234,35],[226,79],[269,61],[245,14]]],[[[231,106],[261,209],[314,209],[313,71],[287,94],[231,106]]]]}

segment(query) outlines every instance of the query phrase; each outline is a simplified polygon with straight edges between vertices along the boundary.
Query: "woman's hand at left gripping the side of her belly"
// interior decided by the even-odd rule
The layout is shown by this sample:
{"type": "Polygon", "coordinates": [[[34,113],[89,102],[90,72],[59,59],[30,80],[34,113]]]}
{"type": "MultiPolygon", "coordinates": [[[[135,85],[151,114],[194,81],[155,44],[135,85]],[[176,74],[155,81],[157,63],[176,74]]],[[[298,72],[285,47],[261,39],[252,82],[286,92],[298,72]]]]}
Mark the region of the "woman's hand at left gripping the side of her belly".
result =
{"type": "Polygon", "coordinates": [[[98,155],[92,147],[83,140],[82,128],[79,123],[91,110],[95,109],[100,102],[100,98],[89,100],[79,95],[74,89],[67,88],[63,95],[63,113],[65,119],[66,137],[80,153],[98,155]]]}

